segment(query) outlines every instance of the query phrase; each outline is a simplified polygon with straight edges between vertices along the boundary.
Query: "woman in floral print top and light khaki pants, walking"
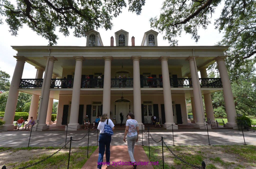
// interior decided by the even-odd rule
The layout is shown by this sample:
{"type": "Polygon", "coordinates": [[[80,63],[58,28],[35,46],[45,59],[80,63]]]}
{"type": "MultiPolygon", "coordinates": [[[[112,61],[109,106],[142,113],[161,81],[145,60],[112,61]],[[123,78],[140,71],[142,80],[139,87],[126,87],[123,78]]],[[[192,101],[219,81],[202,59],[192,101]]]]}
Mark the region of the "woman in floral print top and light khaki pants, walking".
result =
{"type": "Polygon", "coordinates": [[[125,136],[127,135],[127,147],[128,147],[128,153],[131,159],[130,162],[133,164],[134,169],[136,169],[137,165],[133,156],[134,156],[134,145],[135,145],[135,142],[138,141],[139,126],[138,126],[138,122],[134,120],[133,113],[128,113],[127,117],[128,117],[128,120],[126,120],[123,140],[125,141],[125,136]]]}

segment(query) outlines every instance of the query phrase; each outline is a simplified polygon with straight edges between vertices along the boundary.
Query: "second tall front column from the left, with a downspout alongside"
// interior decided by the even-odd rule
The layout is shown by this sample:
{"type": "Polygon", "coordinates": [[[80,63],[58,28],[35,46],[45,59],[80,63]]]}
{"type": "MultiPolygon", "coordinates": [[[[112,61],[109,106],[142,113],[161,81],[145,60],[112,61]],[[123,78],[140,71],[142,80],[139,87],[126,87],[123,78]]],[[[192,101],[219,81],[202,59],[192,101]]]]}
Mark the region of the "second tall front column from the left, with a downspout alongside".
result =
{"type": "Polygon", "coordinates": [[[51,86],[51,77],[52,77],[52,71],[53,71],[53,65],[54,62],[57,61],[57,59],[53,56],[46,57],[46,68],[45,68],[45,75],[44,80],[42,84],[42,91],[41,91],[41,97],[40,97],[40,103],[39,103],[39,109],[38,109],[38,115],[37,115],[37,124],[36,128],[37,130],[44,130],[49,128],[49,125],[46,124],[46,116],[47,116],[47,109],[48,109],[48,103],[49,103],[49,96],[50,96],[50,86],[51,86]]]}

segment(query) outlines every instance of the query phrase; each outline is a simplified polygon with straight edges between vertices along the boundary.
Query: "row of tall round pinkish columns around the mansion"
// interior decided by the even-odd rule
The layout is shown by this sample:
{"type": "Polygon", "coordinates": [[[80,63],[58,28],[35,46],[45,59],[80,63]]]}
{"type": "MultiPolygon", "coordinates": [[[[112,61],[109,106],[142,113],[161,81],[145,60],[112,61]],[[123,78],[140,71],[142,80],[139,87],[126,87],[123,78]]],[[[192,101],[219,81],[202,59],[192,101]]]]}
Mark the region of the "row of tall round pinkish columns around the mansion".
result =
{"type": "MultiPolygon", "coordinates": [[[[1,129],[14,129],[13,119],[15,114],[15,109],[17,105],[18,99],[18,88],[20,84],[20,79],[22,78],[22,73],[24,69],[24,64],[26,61],[25,57],[16,57],[17,63],[14,70],[14,75],[12,78],[10,92],[7,99],[6,110],[4,115],[4,121],[6,122],[1,129]]],[[[49,98],[50,95],[50,85],[51,85],[51,78],[56,78],[53,73],[54,62],[57,59],[53,56],[46,57],[46,68],[44,74],[44,80],[41,89],[41,97],[40,97],[40,104],[38,108],[38,116],[37,116],[37,124],[36,127],[38,130],[43,130],[49,128],[51,124],[51,108],[53,99],[49,98]]],[[[72,102],[71,102],[71,115],[69,126],[76,130],[80,128],[78,124],[78,113],[79,113],[79,101],[80,101],[80,86],[81,86],[81,75],[82,75],[82,63],[84,61],[84,57],[77,57],[74,56],[76,60],[75,66],[75,74],[74,74],[74,83],[72,89],[72,102]]],[[[104,86],[103,86],[103,113],[108,113],[110,116],[110,89],[111,89],[111,61],[112,56],[103,56],[104,59],[104,86]]],[[[134,99],[134,115],[135,119],[138,121],[138,124],[142,124],[141,119],[141,86],[140,86],[140,59],[141,56],[132,56],[133,61],[133,99],[134,99]]],[[[168,70],[168,56],[161,56],[161,67],[162,67],[162,78],[163,78],[163,96],[164,96],[164,108],[165,108],[165,118],[166,122],[163,125],[164,127],[168,127],[170,125],[175,125],[174,117],[173,117],[173,110],[172,110],[172,95],[170,89],[170,80],[169,80],[169,70],[168,70]]],[[[189,62],[190,66],[190,75],[192,78],[193,84],[193,98],[191,98],[191,104],[193,112],[196,114],[194,120],[196,125],[203,126],[205,125],[205,115],[204,115],[204,108],[202,103],[202,94],[201,94],[201,87],[198,78],[198,70],[196,65],[196,56],[191,56],[186,59],[189,62]]],[[[228,123],[227,126],[236,126],[235,119],[236,111],[234,107],[232,89],[227,73],[227,69],[224,62],[224,57],[217,57],[216,58],[219,73],[222,80],[223,85],[223,95],[227,110],[228,116],[228,123]]],[[[44,68],[36,68],[37,75],[36,78],[42,78],[44,68]]],[[[207,78],[206,68],[200,69],[201,77],[207,78]]],[[[207,118],[214,119],[213,110],[212,110],[212,103],[211,103],[211,96],[210,94],[204,94],[205,98],[205,105],[207,107],[206,114],[207,118]]],[[[37,105],[39,101],[38,95],[33,95],[31,100],[31,106],[29,111],[29,117],[33,116],[36,118],[37,114],[37,105]]]]}

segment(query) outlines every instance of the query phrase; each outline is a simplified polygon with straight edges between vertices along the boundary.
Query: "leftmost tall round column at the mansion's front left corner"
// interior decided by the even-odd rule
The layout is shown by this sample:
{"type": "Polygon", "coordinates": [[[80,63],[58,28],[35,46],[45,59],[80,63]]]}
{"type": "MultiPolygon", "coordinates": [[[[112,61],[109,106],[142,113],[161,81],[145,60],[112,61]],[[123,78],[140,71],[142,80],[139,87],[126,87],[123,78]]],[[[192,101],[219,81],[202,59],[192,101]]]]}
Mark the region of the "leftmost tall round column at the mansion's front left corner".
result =
{"type": "Polygon", "coordinates": [[[19,95],[19,85],[20,79],[22,78],[23,69],[25,61],[27,60],[23,56],[16,56],[17,59],[16,66],[13,73],[13,78],[10,84],[10,90],[7,98],[7,103],[5,106],[5,114],[3,121],[5,124],[1,127],[2,130],[12,130],[14,129],[14,115],[17,106],[17,100],[19,95]]]}

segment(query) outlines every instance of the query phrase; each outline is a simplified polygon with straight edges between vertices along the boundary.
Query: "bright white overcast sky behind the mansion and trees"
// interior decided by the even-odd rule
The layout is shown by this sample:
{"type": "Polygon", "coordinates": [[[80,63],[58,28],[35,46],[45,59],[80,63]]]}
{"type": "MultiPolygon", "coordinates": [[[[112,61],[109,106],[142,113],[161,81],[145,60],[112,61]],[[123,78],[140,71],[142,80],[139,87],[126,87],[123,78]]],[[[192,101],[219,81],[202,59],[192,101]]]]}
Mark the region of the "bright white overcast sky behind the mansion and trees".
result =
{"type": "MultiPolygon", "coordinates": [[[[146,0],[145,6],[143,6],[141,15],[128,12],[128,8],[123,8],[123,12],[118,17],[113,18],[112,30],[105,30],[104,28],[98,29],[104,46],[110,46],[110,37],[115,37],[115,32],[123,29],[129,32],[129,44],[131,45],[131,37],[135,37],[135,46],[140,46],[144,33],[153,28],[150,27],[149,19],[151,17],[159,16],[162,7],[163,0],[146,0]]],[[[200,39],[196,43],[191,39],[191,35],[182,33],[181,37],[178,38],[179,46],[211,46],[215,45],[221,40],[222,34],[215,29],[214,20],[220,16],[220,10],[216,10],[212,17],[212,23],[208,26],[207,30],[199,29],[200,39]]],[[[3,19],[4,21],[5,19],[3,19]]],[[[26,25],[20,28],[18,35],[12,36],[8,31],[9,27],[4,22],[0,25],[0,70],[5,71],[10,75],[10,81],[13,76],[13,72],[16,65],[16,59],[13,57],[16,55],[16,51],[11,46],[47,46],[48,40],[37,35],[34,31],[30,30],[26,25]]],[[[153,29],[159,32],[156,29],[153,29]]],[[[73,31],[70,30],[70,35],[65,37],[56,30],[56,34],[59,37],[57,40],[58,46],[85,46],[86,38],[76,38],[73,36],[73,31]]],[[[157,36],[158,46],[169,46],[168,40],[163,40],[163,34],[159,33],[157,36]]],[[[115,44],[115,42],[114,42],[115,44]]],[[[36,69],[34,66],[25,63],[23,71],[23,79],[36,77],[36,69]]]]}

